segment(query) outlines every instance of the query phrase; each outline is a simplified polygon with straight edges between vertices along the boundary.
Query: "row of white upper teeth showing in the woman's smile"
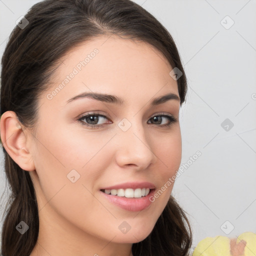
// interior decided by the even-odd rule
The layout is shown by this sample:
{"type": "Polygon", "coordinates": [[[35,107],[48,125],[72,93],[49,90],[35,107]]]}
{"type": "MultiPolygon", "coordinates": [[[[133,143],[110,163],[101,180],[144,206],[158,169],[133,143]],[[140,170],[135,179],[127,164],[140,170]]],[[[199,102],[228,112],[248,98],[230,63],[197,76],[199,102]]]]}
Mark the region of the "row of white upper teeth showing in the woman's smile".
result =
{"type": "Polygon", "coordinates": [[[141,196],[148,195],[150,189],[149,188],[120,188],[120,189],[104,189],[103,190],[106,194],[111,194],[111,195],[117,195],[117,196],[125,196],[128,198],[136,197],[139,198],[141,196]]]}

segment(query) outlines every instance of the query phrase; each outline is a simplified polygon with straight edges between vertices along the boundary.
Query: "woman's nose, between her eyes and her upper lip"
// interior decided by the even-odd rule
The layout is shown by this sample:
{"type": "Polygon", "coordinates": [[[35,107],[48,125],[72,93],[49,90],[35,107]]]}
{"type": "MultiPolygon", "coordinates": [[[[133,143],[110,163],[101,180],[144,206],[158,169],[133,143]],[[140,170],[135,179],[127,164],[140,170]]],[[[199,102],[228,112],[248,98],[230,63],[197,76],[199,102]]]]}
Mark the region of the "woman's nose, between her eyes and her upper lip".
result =
{"type": "MultiPolygon", "coordinates": [[[[127,124],[126,124],[127,125],[127,124]]],[[[146,169],[156,160],[149,134],[145,133],[142,123],[133,121],[124,131],[119,129],[116,140],[116,162],[120,167],[130,166],[136,170],[146,169]]],[[[153,142],[153,141],[151,141],[153,142]]]]}

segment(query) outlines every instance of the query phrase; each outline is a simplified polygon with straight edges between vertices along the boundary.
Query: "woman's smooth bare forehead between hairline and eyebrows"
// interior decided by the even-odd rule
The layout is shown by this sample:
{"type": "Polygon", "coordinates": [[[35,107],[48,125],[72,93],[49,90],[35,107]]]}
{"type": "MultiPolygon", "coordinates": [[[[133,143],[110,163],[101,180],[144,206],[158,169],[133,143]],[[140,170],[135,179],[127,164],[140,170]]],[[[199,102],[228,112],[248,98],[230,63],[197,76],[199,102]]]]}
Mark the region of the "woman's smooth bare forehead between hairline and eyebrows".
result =
{"type": "Polygon", "coordinates": [[[83,91],[128,99],[178,94],[177,83],[169,75],[171,69],[163,54],[146,42],[99,36],[71,48],[60,59],[46,93],[55,89],[54,100],[58,101],[83,91]]]}

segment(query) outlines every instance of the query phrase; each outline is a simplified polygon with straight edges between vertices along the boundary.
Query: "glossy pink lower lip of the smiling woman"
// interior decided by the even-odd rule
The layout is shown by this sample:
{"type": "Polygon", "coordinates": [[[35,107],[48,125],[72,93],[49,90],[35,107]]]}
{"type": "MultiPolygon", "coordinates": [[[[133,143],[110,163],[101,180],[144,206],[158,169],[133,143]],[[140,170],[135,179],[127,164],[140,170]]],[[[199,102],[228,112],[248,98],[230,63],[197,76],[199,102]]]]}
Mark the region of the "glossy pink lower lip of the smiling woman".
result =
{"type": "Polygon", "coordinates": [[[100,191],[106,199],[110,202],[114,203],[115,205],[121,207],[122,209],[129,210],[129,211],[140,211],[145,209],[151,204],[149,197],[153,194],[155,189],[150,189],[149,193],[146,196],[142,197],[132,197],[127,198],[125,196],[117,196],[106,194],[100,191]]]}

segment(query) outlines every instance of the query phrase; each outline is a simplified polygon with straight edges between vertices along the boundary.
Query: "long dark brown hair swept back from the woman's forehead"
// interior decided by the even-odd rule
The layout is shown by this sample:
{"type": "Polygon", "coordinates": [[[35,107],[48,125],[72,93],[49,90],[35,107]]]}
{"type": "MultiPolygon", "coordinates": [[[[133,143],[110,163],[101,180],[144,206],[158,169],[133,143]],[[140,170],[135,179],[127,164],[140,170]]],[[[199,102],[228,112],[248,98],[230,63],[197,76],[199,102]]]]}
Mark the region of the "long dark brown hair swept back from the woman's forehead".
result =
{"type": "MultiPolygon", "coordinates": [[[[116,34],[149,43],[183,74],[177,80],[180,105],[187,84],[179,53],[169,32],[140,5],[130,0],[44,0],[26,13],[28,24],[16,26],[7,42],[1,64],[0,114],[14,111],[25,127],[33,127],[38,96],[47,89],[54,66],[72,47],[95,36],[116,34]]],[[[4,141],[3,141],[4,143],[4,141]]],[[[33,183],[7,154],[5,173],[11,194],[5,207],[1,254],[29,256],[35,246],[39,218],[33,183]],[[23,220],[29,229],[20,234],[23,220]]],[[[192,233],[185,212],[171,195],[151,233],[133,243],[134,256],[185,256],[192,233]]]]}

